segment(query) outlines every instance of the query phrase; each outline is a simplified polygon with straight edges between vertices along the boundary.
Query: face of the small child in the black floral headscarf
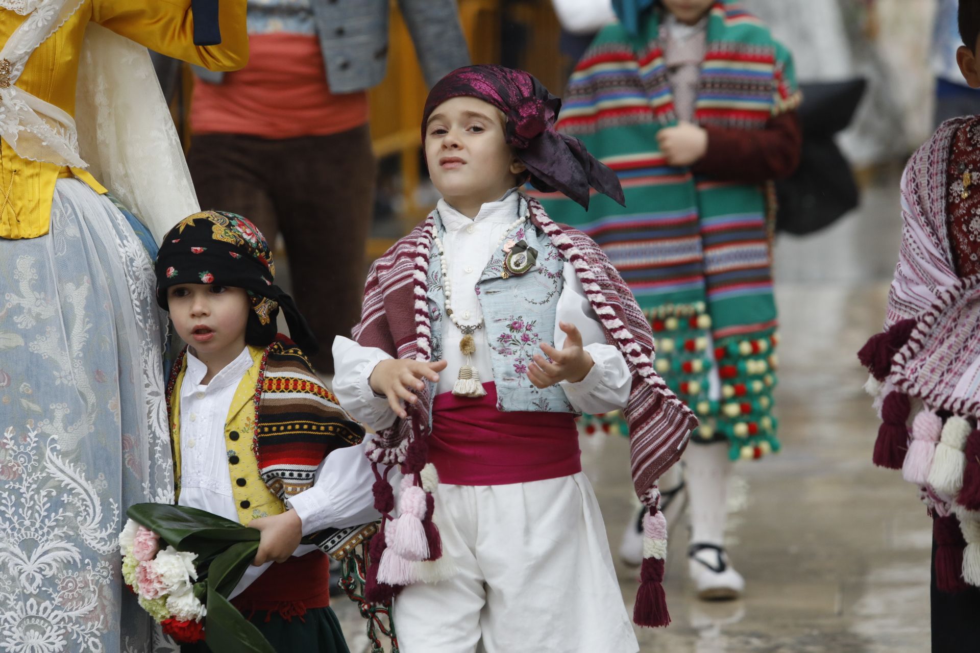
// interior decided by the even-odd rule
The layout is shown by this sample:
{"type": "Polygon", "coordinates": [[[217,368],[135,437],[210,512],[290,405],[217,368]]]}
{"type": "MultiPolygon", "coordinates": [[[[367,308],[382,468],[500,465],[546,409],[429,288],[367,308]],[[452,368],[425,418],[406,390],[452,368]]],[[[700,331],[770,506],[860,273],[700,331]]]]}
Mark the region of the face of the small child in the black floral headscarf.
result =
{"type": "Polygon", "coordinates": [[[167,289],[167,303],[177,335],[199,354],[245,347],[252,303],[243,288],[179,284],[167,289]]]}

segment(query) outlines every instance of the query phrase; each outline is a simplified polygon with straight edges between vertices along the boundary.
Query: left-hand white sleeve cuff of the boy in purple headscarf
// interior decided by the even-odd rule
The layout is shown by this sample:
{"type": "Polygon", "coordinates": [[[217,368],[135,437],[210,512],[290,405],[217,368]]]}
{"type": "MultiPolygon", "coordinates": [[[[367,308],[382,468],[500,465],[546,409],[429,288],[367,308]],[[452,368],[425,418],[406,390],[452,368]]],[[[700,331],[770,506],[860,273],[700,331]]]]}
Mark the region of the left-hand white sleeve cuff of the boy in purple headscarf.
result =
{"type": "Polygon", "coordinates": [[[387,429],[397,419],[387,397],[375,395],[370,387],[374,366],[391,357],[383,350],[362,347],[343,336],[333,341],[333,394],[351,417],[374,431],[387,429]]]}

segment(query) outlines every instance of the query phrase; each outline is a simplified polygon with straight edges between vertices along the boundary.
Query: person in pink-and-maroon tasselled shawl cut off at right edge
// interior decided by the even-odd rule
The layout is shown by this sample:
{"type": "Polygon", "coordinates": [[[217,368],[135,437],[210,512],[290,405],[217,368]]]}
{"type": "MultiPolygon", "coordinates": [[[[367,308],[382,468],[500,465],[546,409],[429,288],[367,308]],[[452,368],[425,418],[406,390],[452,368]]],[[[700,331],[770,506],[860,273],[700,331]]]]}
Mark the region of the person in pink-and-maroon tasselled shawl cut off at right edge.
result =
{"type": "MultiPolygon", "coordinates": [[[[980,88],[980,3],[960,0],[956,62],[980,88]]],[[[902,246],[885,330],[858,356],[882,420],[874,463],[933,518],[932,650],[980,641],[980,117],[944,122],[902,177],[902,246]]]]}

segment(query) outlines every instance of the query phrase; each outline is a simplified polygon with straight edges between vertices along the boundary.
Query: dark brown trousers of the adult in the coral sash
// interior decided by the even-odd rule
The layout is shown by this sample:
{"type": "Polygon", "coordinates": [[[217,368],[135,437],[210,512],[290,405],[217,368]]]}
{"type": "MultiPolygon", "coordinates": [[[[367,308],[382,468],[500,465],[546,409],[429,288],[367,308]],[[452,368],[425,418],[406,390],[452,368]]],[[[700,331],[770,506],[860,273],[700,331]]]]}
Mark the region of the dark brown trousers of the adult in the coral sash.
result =
{"type": "MultiPolygon", "coordinates": [[[[319,340],[312,362],[332,374],[333,338],[350,336],[364,297],[375,175],[368,125],[283,140],[202,134],[187,163],[201,209],[244,215],[270,247],[282,233],[292,296],[319,340]]],[[[276,271],[286,288],[285,270],[276,271]]]]}

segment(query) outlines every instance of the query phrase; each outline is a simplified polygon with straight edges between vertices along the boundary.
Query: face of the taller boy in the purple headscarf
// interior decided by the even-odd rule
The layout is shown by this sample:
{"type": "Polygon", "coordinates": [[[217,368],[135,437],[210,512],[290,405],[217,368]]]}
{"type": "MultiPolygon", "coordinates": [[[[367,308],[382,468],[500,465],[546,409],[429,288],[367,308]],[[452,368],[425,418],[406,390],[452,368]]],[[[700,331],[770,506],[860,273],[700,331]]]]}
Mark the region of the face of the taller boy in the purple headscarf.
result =
{"type": "Polygon", "coordinates": [[[504,119],[493,105],[468,97],[447,100],[432,112],[425,159],[432,183],[450,204],[463,198],[492,202],[515,185],[524,165],[504,140],[504,119]]]}

